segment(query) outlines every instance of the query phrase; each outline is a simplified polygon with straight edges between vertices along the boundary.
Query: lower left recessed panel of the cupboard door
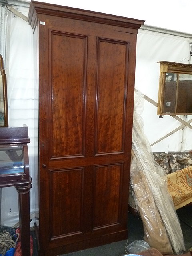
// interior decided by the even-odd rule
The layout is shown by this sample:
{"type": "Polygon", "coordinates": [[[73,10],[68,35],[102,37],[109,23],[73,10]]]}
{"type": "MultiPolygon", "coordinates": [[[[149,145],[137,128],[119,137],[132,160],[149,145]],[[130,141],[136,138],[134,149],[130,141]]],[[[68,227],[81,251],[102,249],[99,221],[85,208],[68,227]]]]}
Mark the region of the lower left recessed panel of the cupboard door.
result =
{"type": "Polygon", "coordinates": [[[51,238],[82,233],[84,171],[49,170],[51,238]]]}

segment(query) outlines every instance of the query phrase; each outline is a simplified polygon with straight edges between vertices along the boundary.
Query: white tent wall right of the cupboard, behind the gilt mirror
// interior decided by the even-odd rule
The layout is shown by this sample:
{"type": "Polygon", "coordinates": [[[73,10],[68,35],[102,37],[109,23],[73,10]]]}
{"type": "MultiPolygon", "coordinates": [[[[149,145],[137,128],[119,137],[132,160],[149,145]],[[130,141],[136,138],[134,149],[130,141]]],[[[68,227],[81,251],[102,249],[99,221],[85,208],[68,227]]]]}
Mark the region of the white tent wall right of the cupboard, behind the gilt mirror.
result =
{"type": "MultiPolygon", "coordinates": [[[[191,34],[143,26],[138,32],[135,88],[158,102],[160,64],[158,61],[188,63],[190,60],[191,34]],[[156,31],[155,31],[156,30],[156,31]]],[[[182,125],[171,116],[159,118],[156,106],[145,100],[144,132],[150,144],[156,142],[182,125]]],[[[180,116],[190,119],[190,116],[180,116]]],[[[152,146],[153,152],[184,152],[192,149],[192,130],[183,128],[152,146]]]]}

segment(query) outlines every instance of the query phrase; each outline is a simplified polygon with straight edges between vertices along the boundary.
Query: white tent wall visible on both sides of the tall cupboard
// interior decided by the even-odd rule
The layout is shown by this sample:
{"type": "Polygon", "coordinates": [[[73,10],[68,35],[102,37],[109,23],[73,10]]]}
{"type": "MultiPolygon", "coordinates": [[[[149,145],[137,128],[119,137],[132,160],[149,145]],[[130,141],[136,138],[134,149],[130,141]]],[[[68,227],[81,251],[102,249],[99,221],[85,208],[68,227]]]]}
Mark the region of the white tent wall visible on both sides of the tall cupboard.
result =
{"type": "MultiPolygon", "coordinates": [[[[65,5],[68,6],[68,4],[65,5]]],[[[73,7],[83,8],[82,6],[73,7]]],[[[28,16],[28,7],[20,6],[18,8],[18,11],[28,16]]],[[[92,10],[94,9],[92,8],[92,10]]],[[[96,11],[107,12],[106,9],[102,10],[102,7],[96,11]]],[[[120,12],[113,14],[121,15],[120,12]]],[[[122,15],[144,19],[143,16],[122,15]]],[[[34,77],[34,66],[37,68],[37,64],[33,60],[33,34],[28,23],[14,16],[11,12],[8,12],[7,24],[6,74],[9,126],[23,126],[23,124],[26,124],[29,129],[31,143],[28,144],[28,149],[30,175],[33,181],[30,192],[30,213],[34,216],[38,213],[38,148],[35,146],[38,129],[36,107],[38,90],[36,77],[34,77]]],[[[144,26],[138,31],[135,87],[156,102],[160,69],[157,62],[166,60],[188,63],[190,35],[183,36],[180,32],[176,34],[178,35],[175,35],[175,32],[172,31],[162,32],[161,29],[148,26],[144,26]],[[151,31],[152,29],[155,31],[151,31]]],[[[144,119],[144,131],[151,144],[181,125],[171,116],[158,118],[156,106],[146,100],[142,117],[144,119]]],[[[184,118],[190,119],[186,116],[184,118]]],[[[185,151],[191,148],[192,131],[189,128],[184,128],[184,130],[180,130],[152,146],[152,151],[185,151]]],[[[2,188],[1,209],[1,224],[14,226],[18,222],[18,201],[15,188],[2,188]]]]}

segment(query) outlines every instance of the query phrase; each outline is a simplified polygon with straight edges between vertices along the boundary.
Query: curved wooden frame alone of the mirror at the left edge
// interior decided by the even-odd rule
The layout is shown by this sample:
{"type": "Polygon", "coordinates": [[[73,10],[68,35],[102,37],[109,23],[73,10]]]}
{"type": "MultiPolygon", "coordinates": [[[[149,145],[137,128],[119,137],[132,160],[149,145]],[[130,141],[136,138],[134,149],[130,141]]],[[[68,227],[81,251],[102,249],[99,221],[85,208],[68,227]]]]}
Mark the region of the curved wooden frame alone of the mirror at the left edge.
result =
{"type": "Polygon", "coordinates": [[[7,78],[3,66],[3,57],[0,54],[0,72],[2,75],[3,82],[3,105],[4,105],[4,125],[0,125],[0,127],[8,127],[8,104],[7,104],[7,78]]]}

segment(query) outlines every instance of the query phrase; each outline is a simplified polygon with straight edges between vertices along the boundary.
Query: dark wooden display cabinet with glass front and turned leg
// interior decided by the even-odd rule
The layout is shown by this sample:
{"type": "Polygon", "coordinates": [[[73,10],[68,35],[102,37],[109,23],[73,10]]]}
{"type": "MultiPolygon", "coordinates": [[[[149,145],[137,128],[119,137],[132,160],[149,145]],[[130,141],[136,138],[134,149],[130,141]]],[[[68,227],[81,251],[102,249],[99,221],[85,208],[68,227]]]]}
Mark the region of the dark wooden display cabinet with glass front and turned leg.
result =
{"type": "Polygon", "coordinates": [[[0,188],[15,186],[18,192],[22,256],[30,256],[30,201],[28,127],[0,128],[0,188]]]}

